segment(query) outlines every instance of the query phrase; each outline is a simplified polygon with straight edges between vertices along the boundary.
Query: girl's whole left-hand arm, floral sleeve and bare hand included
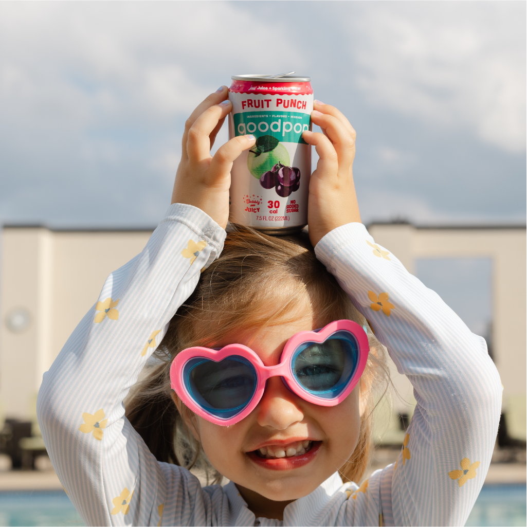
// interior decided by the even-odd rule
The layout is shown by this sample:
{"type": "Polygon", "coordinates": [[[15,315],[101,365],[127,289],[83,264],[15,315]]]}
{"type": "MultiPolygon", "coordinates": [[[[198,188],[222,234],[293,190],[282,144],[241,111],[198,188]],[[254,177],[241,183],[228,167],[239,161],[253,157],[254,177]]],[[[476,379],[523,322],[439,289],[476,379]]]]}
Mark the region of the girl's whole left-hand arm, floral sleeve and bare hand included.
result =
{"type": "Polygon", "coordinates": [[[47,451],[89,525],[217,522],[218,492],[202,492],[188,471],[158,463],[124,417],[123,399],[223,247],[232,161],[255,142],[240,136],[210,156],[231,109],[227,95],[222,86],[187,121],[167,216],[141,254],[106,279],[38,393],[47,451]]]}

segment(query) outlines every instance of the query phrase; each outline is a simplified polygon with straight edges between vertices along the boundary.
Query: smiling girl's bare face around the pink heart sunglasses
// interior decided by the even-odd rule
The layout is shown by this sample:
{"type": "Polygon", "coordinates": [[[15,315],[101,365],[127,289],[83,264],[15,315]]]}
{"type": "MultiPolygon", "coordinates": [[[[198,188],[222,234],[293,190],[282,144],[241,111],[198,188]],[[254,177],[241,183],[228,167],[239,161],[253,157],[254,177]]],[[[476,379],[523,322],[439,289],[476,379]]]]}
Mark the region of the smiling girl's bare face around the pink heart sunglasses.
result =
{"type": "MultiPolygon", "coordinates": [[[[292,335],[325,325],[309,309],[303,313],[290,323],[228,336],[217,346],[243,344],[266,366],[276,365],[292,335]]],[[[267,510],[257,516],[268,516],[271,504],[264,502],[306,496],[352,455],[360,427],[359,385],[343,402],[327,407],[304,401],[280,377],[271,377],[258,406],[237,424],[219,426],[198,416],[188,424],[212,465],[236,483],[249,509],[255,514],[267,510]]]]}

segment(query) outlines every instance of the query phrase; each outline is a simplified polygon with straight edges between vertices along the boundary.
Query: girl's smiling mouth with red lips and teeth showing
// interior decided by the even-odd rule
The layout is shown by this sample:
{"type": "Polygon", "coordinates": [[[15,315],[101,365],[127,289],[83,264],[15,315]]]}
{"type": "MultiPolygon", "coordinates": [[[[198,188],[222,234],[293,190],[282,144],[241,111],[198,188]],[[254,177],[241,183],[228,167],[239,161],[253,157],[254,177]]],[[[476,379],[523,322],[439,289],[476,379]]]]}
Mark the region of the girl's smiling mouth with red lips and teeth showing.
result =
{"type": "Polygon", "coordinates": [[[268,445],[247,455],[253,462],[271,470],[290,470],[306,465],[318,454],[321,441],[297,441],[288,445],[268,445]]]}

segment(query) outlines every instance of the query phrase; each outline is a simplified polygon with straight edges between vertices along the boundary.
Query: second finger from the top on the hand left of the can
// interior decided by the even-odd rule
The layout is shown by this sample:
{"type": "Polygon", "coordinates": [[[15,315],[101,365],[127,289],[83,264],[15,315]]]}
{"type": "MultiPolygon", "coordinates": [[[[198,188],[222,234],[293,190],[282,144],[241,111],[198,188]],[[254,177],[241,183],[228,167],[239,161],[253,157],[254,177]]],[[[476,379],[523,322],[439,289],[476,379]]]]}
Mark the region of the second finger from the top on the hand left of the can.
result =
{"type": "Polygon", "coordinates": [[[186,144],[187,155],[192,162],[199,163],[204,159],[210,159],[210,136],[213,131],[218,132],[220,121],[225,120],[231,109],[230,101],[223,101],[207,108],[194,121],[187,133],[186,144]]]}

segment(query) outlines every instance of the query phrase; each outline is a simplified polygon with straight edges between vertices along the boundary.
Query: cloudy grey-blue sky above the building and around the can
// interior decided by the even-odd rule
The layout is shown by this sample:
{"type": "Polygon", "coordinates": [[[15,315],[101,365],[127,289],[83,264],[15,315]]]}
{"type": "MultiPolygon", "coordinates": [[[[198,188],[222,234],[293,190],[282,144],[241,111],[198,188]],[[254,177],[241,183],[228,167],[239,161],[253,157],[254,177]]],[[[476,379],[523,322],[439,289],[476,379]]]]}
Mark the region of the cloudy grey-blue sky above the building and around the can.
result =
{"type": "Polygon", "coordinates": [[[296,71],[357,130],[365,223],[524,223],[525,11],[0,2],[0,222],[155,226],[203,97],[296,71]]]}

